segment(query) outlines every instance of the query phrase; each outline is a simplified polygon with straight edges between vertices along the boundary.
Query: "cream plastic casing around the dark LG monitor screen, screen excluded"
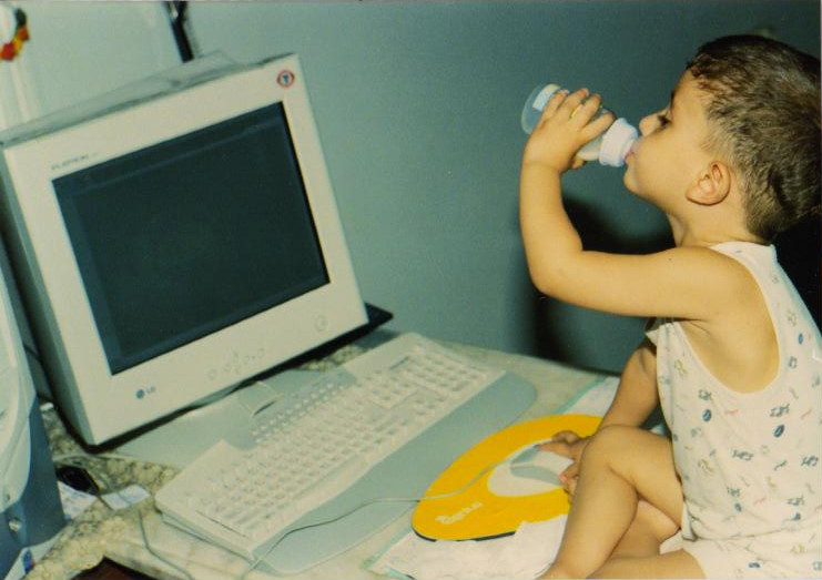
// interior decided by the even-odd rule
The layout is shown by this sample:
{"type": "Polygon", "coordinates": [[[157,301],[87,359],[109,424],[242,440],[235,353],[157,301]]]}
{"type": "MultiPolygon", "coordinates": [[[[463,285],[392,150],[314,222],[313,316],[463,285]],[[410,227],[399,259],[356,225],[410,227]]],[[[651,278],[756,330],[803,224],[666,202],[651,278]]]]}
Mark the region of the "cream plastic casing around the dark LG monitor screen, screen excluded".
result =
{"type": "Polygon", "coordinates": [[[14,143],[1,169],[3,213],[51,388],[88,444],[230,389],[367,320],[295,55],[14,143]],[[290,123],[329,283],[112,374],[52,181],[275,102],[290,123]]]}

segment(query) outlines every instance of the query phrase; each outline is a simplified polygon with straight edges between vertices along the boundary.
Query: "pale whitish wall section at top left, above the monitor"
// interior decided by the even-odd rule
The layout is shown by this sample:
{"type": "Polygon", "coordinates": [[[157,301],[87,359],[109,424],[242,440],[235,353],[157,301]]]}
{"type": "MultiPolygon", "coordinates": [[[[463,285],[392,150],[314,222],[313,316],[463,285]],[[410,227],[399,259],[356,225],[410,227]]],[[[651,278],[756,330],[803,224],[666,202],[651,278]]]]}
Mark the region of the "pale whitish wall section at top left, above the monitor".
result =
{"type": "Polygon", "coordinates": [[[13,9],[31,39],[0,62],[0,129],[180,63],[161,2],[38,1],[0,6],[0,42],[14,33],[13,9]]]}

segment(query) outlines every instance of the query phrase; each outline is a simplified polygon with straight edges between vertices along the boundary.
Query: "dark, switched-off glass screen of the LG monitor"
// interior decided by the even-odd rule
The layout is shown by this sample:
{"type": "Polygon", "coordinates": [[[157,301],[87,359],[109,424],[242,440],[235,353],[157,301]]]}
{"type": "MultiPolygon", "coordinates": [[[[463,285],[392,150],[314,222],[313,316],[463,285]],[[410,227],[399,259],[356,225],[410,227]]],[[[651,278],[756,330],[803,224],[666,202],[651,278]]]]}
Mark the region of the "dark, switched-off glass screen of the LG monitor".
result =
{"type": "Polygon", "coordinates": [[[54,191],[112,373],[328,282],[282,103],[54,191]]]}

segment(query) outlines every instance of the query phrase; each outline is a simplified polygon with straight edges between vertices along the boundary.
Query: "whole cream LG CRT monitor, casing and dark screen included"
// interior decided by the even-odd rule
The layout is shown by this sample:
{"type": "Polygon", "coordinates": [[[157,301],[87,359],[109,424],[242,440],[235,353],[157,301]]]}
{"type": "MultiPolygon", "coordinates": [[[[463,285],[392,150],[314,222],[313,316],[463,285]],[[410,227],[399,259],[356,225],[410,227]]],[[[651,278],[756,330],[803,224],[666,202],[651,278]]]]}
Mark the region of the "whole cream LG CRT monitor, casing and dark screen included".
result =
{"type": "Polygon", "coordinates": [[[90,445],[366,322],[298,59],[168,78],[1,152],[14,271],[90,445]]]}

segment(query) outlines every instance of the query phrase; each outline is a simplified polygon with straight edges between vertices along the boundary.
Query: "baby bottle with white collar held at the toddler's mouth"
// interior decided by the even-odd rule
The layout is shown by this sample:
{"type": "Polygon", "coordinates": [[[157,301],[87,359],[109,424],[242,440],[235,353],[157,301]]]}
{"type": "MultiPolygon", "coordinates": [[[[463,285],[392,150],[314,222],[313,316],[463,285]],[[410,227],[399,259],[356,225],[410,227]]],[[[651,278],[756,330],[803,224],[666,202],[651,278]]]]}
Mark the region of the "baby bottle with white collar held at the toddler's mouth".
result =
{"type": "MultiPolygon", "coordinates": [[[[539,118],[542,115],[542,109],[548,103],[551,95],[561,89],[558,84],[546,84],[534,89],[522,108],[521,123],[526,133],[531,133],[537,126],[539,118]]],[[[625,165],[625,157],[630,152],[631,145],[637,140],[638,133],[628,121],[622,118],[617,119],[608,130],[597,139],[587,143],[579,150],[577,156],[586,160],[599,160],[602,165],[611,167],[621,167],[625,165]]]]}

